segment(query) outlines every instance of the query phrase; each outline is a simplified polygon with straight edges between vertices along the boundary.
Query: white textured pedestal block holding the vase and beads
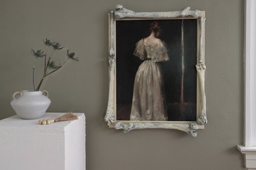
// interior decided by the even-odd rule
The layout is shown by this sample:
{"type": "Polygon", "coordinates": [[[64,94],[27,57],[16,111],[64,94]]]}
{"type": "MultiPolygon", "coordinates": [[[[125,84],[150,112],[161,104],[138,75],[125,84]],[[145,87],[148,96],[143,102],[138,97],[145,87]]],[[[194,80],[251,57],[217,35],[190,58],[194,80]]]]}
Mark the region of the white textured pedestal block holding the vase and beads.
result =
{"type": "Polygon", "coordinates": [[[85,115],[76,115],[79,120],[48,125],[18,116],[0,120],[0,169],[85,170],[85,115]]]}

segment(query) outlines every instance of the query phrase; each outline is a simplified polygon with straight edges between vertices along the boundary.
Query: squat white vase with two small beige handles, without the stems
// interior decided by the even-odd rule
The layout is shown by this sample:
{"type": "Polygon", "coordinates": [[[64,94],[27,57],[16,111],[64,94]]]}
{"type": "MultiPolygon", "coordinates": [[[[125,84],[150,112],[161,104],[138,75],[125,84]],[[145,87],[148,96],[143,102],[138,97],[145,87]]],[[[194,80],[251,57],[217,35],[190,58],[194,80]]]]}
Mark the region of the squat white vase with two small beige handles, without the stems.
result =
{"type": "Polygon", "coordinates": [[[37,119],[44,116],[46,109],[51,104],[46,90],[14,92],[12,99],[12,108],[23,119],[37,119]]]}

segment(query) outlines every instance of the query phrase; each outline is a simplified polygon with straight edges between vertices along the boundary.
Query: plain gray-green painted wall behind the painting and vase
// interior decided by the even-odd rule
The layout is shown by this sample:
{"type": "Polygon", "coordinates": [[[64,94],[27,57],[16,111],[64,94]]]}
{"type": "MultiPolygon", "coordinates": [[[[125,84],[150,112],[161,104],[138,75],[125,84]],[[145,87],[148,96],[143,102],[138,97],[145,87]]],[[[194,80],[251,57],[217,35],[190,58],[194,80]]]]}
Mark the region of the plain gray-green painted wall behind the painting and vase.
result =
{"type": "Polygon", "coordinates": [[[42,48],[45,38],[54,39],[74,50],[80,61],[49,76],[42,89],[50,93],[49,112],[85,112],[88,170],[244,169],[236,150],[243,143],[243,32],[242,0],[1,0],[0,119],[15,114],[10,107],[14,91],[33,87],[33,65],[41,75],[42,61],[29,50],[42,48]],[[146,12],[186,6],[205,10],[209,122],[196,138],[181,131],[122,133],[106,126],[108,12],[117,4],[146,12]]]}

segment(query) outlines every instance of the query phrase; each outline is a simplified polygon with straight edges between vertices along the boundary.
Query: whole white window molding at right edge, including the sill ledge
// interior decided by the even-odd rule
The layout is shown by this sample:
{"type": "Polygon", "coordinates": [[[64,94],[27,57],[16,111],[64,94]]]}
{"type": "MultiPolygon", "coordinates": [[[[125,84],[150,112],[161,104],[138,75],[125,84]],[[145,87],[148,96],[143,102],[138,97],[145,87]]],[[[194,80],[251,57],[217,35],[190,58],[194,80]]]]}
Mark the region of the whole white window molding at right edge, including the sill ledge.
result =
{"type": "Polygon", "coordinates": [[[244,39],[244,154],[247,169],[256,169],[256,0],[245,1],[244,39]]]}

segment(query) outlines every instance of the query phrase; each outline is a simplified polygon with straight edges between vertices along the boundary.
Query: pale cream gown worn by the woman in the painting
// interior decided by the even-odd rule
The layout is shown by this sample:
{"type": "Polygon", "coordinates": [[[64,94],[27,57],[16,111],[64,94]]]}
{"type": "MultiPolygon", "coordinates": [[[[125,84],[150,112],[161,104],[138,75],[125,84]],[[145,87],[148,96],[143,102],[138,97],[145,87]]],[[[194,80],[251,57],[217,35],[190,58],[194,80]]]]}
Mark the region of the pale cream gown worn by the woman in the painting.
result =
{"type": "Polygon", "coordinates": [[[160,41],[147,45],[141,39],[134,55],[145,61],[135,75],[130,120],[168,120],[162,69],[158,63],[169,60],[165,44],[160,41]]]}

